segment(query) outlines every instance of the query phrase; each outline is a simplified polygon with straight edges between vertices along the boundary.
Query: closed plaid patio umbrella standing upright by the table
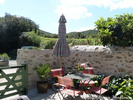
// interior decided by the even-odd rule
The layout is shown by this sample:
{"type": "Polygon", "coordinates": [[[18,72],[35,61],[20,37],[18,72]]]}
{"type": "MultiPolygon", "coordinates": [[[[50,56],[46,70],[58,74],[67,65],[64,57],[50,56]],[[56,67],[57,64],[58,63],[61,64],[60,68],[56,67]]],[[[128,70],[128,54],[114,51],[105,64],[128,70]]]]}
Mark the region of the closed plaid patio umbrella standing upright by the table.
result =
{"type": "Polygon", "coordinates": [[[60,67],[62,68],[62,57],[67,57],[70,55],[70,49],[66,41],[66,19],[62,14],[59,19],[59,29],[58,29],[58,40],[53,49],[53,54],[60,58],[60,67]]]}

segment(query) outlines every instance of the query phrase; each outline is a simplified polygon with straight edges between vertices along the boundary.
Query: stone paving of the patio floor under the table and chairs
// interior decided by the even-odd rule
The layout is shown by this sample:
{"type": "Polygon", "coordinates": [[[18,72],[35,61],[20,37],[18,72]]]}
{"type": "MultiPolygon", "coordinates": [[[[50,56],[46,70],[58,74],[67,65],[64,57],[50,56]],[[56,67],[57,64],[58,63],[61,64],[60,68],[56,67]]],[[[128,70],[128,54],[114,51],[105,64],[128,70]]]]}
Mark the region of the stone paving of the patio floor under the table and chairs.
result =
{"type": "MultiPolygon", "coordinates": [[[[54,98],[54,91],[52,89],[49,89],[47,93],[45,94],[39,94],[37,93],[36,88],[29,90],[29,93],[27,94],[27,96],[29,97],[30,100],[63,100],[63,98],[60,95],[56,94],[54,98]]],[[[91,95],[92,97],[90,97],[88,94],[83,94],[80,97],[77,98],[72,98],[71,96],[66,96],[65,100],[97,100],[96,97],[97,95],[91,95]]],[[[102,100],[102,99],[100,99],[102,100]]],[[[110,97],[105,97],[104,96],[104,100],[113,100],[110,97]]]]}

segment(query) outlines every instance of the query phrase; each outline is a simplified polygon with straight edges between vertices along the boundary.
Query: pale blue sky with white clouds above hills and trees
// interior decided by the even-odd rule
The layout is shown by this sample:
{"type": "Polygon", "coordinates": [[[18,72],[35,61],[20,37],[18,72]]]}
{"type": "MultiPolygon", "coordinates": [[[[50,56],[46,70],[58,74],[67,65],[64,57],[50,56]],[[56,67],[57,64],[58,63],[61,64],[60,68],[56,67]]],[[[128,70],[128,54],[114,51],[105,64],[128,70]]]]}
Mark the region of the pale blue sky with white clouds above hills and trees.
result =
{"type": "Polygon", "coordinates": [[[100,17],[133,13],[133,0],[0,0],[0,17],[5,13],[27,17],[56,34],[63,13],[68,33],[94,29],[100,17]]]}

